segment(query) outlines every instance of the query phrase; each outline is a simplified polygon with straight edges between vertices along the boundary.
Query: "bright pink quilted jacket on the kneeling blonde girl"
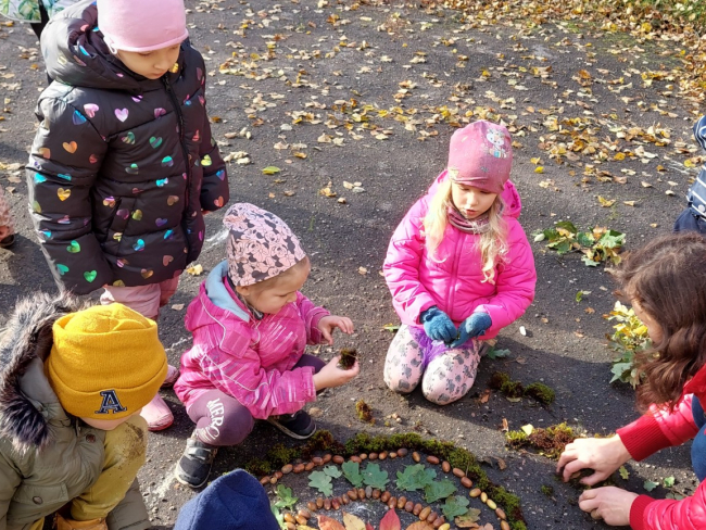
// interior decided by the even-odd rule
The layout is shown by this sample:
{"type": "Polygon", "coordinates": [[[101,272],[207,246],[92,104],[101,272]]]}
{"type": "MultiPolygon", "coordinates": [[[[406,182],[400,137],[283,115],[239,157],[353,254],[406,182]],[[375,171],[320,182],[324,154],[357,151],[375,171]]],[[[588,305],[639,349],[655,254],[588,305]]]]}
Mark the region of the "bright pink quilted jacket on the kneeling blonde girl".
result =
{"type": "Polygon", "coordinates": [[[517,217],[521,203],[515,186],[507,181],[505,219],[508,254],[495,266],[495,283],[483,281],[478,242],[480,236],[446,227],[434,256],[427,252],[421,220],[443,172],[407,212],[398,226],[384,260],[383,273],[392,303],[403,324],[420,326],[419,314],[432,305],[444,311],[456,326],[474,311],[483,311],[492,326],[479,339],[492,339],[501,328],[519,318],[534,299],[537,272],[532,249],[517,217]]]}

